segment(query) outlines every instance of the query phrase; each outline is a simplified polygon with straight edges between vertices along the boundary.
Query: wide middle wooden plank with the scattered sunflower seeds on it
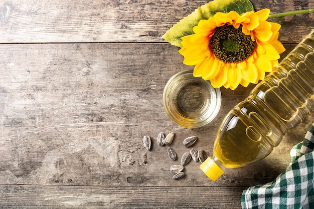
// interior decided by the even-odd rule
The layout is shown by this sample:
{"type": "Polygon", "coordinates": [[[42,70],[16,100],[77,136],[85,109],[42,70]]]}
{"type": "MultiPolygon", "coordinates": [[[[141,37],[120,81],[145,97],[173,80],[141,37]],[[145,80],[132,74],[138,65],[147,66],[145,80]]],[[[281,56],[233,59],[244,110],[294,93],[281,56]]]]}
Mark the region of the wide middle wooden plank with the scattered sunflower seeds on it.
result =
{"type": "Polygon", "coordinates": [[[195,162],[186,166],[184,179],[174,181],[169,167],[178,162],[155,143],[158,133],[177,134],[172,147],[179,156],[187,151],[182,140],[197,135],[194,147],[210,155],[225,114],[254,85],[222,88],[215,120],[187,129],[169,119],[162,103],[168,79],[189,69],[169,44],[24,44],[0,49],[0,184],[253,185],[272,180],[287,166],[289,149],[314,121],[311,114],[269,157],[227,170],[216,182],[195,162]],[[152,137],[151,151],[144,149],[143,135],[152,137]]]}

